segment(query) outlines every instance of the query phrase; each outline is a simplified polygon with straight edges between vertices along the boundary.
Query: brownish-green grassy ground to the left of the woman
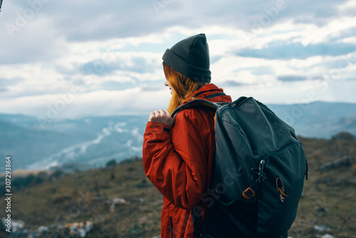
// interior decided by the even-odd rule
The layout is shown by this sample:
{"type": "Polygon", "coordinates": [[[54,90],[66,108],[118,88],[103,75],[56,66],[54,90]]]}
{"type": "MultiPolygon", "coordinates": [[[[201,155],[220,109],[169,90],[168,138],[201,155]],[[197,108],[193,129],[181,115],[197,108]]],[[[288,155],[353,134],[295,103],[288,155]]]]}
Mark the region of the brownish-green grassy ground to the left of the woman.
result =
{"type": "MultiPolygon", "coordinates": [[[[88,237],[154,237],[160,233],[162,204],[162,195],[145,177],[142,161],[136,161],[20,190],[12,196],[11,218],[23,220],[29,230],[90,220],[95,226],[88,237]],[[106,201],[115,197],[127,202],[110,209],[106,201]]],[[[1,217],[3,213],[1,209],[1,217]]]]}

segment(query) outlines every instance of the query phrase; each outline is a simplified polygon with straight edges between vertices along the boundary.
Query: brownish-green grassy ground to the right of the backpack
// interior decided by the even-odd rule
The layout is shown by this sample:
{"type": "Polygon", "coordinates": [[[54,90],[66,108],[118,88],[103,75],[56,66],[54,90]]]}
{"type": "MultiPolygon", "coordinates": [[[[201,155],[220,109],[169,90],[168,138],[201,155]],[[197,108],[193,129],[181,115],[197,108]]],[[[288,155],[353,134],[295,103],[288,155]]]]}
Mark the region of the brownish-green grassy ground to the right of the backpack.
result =
{"type": "Polygon", "coordinates": [[[337,238],[356,237],[356,174],[352,167],[320,170],[325,162],[341,157],[356,158],[356,140],[301,138],[308,158],[309,180],[305,181],[291,237],[317,237],[332,234],[337,238]],[[330,227],[317,232],[314,226],[330,227]]]}

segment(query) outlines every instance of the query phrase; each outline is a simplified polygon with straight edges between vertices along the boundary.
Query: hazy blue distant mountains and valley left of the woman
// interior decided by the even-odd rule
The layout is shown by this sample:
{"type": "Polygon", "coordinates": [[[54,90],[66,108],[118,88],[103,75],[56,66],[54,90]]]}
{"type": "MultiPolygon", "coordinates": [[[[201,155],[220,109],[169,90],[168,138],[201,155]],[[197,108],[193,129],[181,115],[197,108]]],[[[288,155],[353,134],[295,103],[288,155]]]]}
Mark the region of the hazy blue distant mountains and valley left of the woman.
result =
{"type": "Polygon", "coordinates": [[[14,170],[47,170],[73,162],[102,166],[112,158],[142,155],[146,120],[137,115],[88,117],[53,121],[43,130],[36,118],[3,114],[0,157],[11,155],[14,170]]]}

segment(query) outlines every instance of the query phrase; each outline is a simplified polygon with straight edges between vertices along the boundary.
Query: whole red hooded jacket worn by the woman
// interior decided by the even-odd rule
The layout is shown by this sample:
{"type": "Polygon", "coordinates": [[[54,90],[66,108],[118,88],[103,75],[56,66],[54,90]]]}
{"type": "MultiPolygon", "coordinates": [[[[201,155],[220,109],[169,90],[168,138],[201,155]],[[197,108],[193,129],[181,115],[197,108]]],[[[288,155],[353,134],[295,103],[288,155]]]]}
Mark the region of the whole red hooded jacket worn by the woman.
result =
{"type": "MultiPolygon", "coordinates": [[[[205,98],[222,93],[207,84],[194,93],[205,98]]],[[[228,95],[207,98],[231,102],[228,95]]],[[[214,112],[188,108],[177,114],[173,128],[148,122],[143,142],[143,164],[147,177],[164,196],[161,237],[194,237],[190,210],[199,205],[209,188],[215,157],[214,112]]]]}

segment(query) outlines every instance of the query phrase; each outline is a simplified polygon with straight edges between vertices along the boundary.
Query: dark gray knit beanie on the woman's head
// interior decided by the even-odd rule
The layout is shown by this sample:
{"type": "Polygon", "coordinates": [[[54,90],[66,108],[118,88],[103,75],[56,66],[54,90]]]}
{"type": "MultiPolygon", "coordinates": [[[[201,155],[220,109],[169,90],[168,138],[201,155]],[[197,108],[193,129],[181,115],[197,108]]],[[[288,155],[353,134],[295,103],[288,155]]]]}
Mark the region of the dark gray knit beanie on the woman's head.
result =
{"type": "Polygon", "coordinates": [[[167,48],[164,63],[182,75],[201,83],[210,83],[209,46],[204,33],[190,36],[167,48]]]}

